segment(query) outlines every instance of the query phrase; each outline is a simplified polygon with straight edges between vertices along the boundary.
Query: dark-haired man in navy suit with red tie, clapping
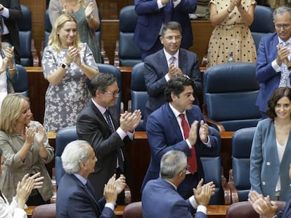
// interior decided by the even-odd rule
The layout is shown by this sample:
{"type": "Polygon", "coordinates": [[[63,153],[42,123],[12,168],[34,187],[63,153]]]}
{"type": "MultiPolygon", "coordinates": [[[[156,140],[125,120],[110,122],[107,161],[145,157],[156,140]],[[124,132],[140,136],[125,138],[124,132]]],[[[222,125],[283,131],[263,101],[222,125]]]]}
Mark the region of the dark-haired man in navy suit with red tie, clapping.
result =
{"type": "Polygon", "coordinates": [[[160,160],[170,150],[183,151],[188,157],[190,169],[178,187],[183,198],[192,196],[193,187],[204,177],[200,151],[211,152],[218,139],[210,132],[200,108],[193,105],[194,88],[194,82],[185,76],[170,79],[164,90],[167,103],[148,117],[146,133],[151,156],[142,189],[149,180],[159,177],[160,160]]]}

